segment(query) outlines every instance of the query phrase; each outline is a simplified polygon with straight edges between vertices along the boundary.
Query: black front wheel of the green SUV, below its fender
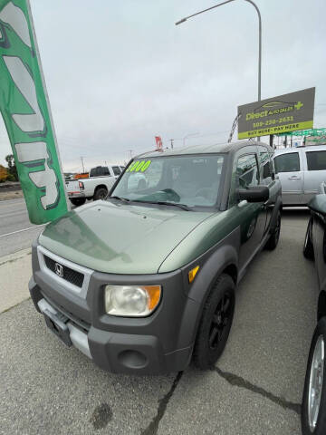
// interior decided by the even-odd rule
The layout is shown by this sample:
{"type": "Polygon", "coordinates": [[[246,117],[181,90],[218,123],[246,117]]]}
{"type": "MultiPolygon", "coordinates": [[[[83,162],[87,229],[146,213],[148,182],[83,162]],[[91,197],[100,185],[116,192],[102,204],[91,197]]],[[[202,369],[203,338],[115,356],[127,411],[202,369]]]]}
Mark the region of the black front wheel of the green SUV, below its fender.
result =
{"type": "Polygon", "coordinates": [[[235,283],[222,274],[210,291],[197,330],[193,362],[197,368],[213,367],[225,349],[235,313],[235,283]]]}

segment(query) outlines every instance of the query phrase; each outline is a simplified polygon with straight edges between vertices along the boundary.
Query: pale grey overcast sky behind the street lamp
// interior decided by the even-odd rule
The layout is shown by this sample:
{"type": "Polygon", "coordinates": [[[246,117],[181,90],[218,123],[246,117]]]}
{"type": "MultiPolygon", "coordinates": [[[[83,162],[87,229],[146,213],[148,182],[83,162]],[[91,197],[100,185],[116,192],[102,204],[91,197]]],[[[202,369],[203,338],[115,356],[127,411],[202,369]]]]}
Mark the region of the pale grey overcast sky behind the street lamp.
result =
{"type": "MultiPolygon", "coordinates": [[[[258,20],[235,0],[31,0],[65,171],[123,163],[199,133],[227,140],[239,104],[257,100],[258,20]]],[[[263,19],[262,98],[316,86],[326,127],[325,0],[256,0],[263,19]]],[[[11,152],[0,121],[0,164],[11,152]]]]}

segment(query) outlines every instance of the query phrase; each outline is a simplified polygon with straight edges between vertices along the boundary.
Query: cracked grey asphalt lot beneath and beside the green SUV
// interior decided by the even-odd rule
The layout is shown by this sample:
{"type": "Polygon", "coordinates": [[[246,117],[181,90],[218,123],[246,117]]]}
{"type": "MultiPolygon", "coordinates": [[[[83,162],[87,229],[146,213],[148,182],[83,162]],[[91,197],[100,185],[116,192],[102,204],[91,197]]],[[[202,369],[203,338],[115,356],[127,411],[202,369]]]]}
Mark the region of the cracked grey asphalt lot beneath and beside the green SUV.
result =
{"type": "MultiPolygon", "coordinates": [[[[209,372],[103,372],[64,347],[31,300],[6,309],[0,434],[300,434],[318,296],[313,263],[302,256],[308,218],[307,211],[283,212],[279,246],[248,267],[225,353],[209,372]]],[[[5,261],[14,266],[23,257],[5,261]]]]}

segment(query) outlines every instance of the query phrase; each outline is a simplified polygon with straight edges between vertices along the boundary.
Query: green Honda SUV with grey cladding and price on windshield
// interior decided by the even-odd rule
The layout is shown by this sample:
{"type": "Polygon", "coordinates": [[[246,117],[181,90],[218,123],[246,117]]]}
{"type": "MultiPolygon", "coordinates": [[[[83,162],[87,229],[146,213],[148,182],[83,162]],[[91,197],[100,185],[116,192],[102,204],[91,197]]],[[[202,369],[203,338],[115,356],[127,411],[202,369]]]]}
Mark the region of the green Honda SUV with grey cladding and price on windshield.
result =
{"type": "Polygon", "coordinates": [[[62,342],[110,372],[214,365],[255,254],[276,247],[281,184],[261,142],[131,160],[105,200],[34,243],[29,288],[62,342]]]}

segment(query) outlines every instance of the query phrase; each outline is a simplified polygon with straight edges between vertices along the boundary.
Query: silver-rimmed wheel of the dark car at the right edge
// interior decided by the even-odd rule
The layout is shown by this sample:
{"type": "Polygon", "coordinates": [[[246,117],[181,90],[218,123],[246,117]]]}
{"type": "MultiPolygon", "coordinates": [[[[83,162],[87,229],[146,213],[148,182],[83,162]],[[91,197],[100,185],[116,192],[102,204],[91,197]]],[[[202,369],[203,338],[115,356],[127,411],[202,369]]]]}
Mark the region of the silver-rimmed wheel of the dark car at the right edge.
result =
{"type": "Polygon", "coordinates": [[[326,433],[326,317],[322,317],[313,333],[302,397],[302,434],[326,433]],[[323,367],[321,352],[323,346],[323,367]],[[317,372],[319,368],[320,372],[317,372]],[[317,374],[317,375],[316,375],[317,374]],[[312,382],[312,385],[311,385],[312,382]],[[317,386],[313,395],[313,385],[317,386]],[[319,392],[318,392],[319,390],[319,392]],[[319,403],[319,406],[318,406],[319,403]],[[312,411],[309,411],[312,407],[312,411]]]}

